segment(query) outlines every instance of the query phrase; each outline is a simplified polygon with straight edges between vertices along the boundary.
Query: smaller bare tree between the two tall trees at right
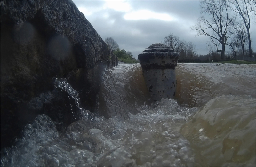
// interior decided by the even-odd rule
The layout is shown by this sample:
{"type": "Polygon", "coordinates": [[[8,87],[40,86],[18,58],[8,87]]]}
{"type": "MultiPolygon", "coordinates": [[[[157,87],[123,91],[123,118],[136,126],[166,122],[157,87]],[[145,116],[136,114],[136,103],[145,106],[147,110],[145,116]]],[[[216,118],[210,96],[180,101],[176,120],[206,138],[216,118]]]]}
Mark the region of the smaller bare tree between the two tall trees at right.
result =
{"type": "MultiPolygon", "coordinates": [[[[241,47],[242,53],[244,56],[244,48],[245,48],[245,45],[248,44],[248,36],[247,36],[247,31],[244,28],[244,24],[242,24],[239,21],[235,21],[235,22],[231,23],[230,25],[231,26],[230,26],[228,32],[231,36],[233,36],[233,38],[231,39],[232,42],[227,43],[227,45],[229,45],[230,47],[232,47],[232,46],[233,47],[235,47],[235,46],[241,47]],[[236,41],[236,42],[234,42],[234,41],[236,41]]],[[[233,51],[234,51],[234,49],[233,49],[233,51]]]]}

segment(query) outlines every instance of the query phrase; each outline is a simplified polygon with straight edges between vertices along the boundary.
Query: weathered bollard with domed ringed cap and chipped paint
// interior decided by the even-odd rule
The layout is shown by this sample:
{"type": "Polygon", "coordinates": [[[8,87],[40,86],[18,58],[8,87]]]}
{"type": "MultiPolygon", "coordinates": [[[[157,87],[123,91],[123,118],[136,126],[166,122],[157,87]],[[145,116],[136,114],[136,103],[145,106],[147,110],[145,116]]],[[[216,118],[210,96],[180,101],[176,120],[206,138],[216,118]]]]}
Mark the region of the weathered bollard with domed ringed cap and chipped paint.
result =
{"type": "Polygon", "coordinates": [[[148,91],[154,101],[172,98],[176,92],[179,53],[165,44],[155,43],[138,55],[148,91]]]}

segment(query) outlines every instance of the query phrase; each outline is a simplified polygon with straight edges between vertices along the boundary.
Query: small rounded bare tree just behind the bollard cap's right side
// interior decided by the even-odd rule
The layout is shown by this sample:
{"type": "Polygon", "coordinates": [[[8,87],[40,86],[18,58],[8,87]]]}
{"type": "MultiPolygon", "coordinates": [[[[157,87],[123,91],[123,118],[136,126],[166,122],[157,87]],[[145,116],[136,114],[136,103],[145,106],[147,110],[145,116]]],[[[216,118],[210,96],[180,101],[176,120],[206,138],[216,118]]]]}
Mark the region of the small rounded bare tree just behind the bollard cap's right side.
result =
{"type": "Polygon", "coordinates": [[[164,37],[164,44],[171,47],[174,50],[174,52],[178,52],[182,47],[182,42],[180,41],[180,37],[175,36],[173,34],[170,34],[164,37]]]}

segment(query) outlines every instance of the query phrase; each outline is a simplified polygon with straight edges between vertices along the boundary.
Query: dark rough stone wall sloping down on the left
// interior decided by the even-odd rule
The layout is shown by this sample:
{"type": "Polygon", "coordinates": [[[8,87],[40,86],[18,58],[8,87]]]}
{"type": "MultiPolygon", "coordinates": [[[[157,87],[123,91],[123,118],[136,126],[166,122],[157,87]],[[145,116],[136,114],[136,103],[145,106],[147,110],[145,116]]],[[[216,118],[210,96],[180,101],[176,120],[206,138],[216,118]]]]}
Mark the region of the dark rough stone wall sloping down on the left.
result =
{"type": "Polygon", "coordinates": [[[0,4],[2,148],[30,121],[24,115],[35,115],[20,108],[52,91],[53,77],[66,78],[93,112],[102,73],[117,57],[72,1],[0,4]]]}

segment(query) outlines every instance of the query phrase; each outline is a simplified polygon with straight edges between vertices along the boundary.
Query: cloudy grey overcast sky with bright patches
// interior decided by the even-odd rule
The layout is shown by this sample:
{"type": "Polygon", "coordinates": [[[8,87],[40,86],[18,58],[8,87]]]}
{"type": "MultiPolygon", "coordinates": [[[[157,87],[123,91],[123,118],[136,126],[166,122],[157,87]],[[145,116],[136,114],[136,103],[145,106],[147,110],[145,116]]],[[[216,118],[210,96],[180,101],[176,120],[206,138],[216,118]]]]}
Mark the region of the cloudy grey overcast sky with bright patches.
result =
{"type": "MultiPolygon", "coordinates": [[[[112,37],[120,49],[131,51],[136,57],[145,48],[161,43],[173,33],[196,45],[196,52],[208,54],[208,36],[195,37],[192,26],[200,17],[200,1],[73,1],[103,40],[112,37]],[[206,42],[208,44],[206,44],[206,42]]],[[[252,49],[256,50],[255,19],[251,24],[252,49]]],[[[213,45],[212,45],[213,46],[213,45]]],[[[221,46],[220,46],[221,48],[221,46]]],[[[226,50],[229,47],[226,46],[226,50]]],[[[138,59],[138,57],[137,57],[138,59]]]]}

